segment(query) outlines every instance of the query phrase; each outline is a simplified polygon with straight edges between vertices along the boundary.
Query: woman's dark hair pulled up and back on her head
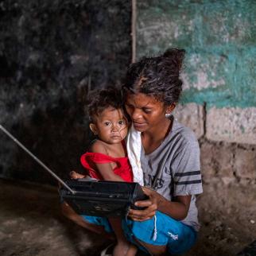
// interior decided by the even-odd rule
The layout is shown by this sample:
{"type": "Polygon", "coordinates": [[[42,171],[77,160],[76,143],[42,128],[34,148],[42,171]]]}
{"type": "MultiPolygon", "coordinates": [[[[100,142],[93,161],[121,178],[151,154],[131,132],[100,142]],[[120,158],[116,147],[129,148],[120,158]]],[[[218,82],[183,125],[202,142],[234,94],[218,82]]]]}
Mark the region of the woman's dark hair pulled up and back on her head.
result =
{"type": "Polygon", "coordinates": [[[141,92],[153,95],[166,106],[177,103],[182,91],[180,69],[184,53],[184,49],[170,48],[161,56],[144,57],[131,64],[123,85],[124,94],[141,92]]]}

